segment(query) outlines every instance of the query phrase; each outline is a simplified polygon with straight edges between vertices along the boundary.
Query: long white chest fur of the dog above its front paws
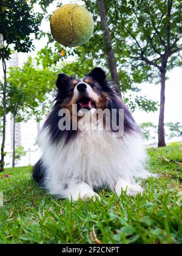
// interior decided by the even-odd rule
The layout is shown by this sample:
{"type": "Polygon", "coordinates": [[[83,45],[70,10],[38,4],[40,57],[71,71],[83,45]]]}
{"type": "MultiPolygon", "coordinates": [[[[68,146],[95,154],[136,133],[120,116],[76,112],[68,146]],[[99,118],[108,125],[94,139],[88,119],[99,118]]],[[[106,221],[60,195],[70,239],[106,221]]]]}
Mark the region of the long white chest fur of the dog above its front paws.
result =
{"type": "Polygon", "coordinates": [[[113,187],[119,177],[147,176],[141,136],[124,134],[119,139],[110,131],[82,131],[66,145],[50,144],[49,131],[39,136],[42,158],[47,166],[47,184],[81,179],[90,187],[113,187]]]}

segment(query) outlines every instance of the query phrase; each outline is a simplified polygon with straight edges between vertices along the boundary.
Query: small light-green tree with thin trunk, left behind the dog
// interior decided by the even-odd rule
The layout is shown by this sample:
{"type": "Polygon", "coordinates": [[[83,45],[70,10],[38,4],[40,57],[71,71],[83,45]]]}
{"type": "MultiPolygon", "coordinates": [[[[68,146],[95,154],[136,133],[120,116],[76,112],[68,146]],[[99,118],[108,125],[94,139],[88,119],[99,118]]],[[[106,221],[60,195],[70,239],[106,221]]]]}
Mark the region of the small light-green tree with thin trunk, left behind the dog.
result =
{"type": "Polygon", "coordinates": [[[7,113],[13,118],[13,160],[15,167],[15,123],[26,122],[34,116],[41,120],[49,109],[49,92],[55,84],[55,73],[50,69],[33,66],[29,58],[22,68],[10,67],[7,78],[7,113]]]}

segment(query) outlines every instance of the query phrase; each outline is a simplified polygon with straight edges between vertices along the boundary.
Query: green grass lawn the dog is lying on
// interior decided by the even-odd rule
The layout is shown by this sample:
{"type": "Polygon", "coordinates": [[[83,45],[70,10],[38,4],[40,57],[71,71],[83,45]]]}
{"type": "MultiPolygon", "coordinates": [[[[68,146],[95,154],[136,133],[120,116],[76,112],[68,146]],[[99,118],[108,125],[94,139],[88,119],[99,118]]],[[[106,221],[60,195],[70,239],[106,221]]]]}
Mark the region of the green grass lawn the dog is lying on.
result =
{"type": "Polygon", "coordinates": [[[101,190],[101,202],[55,199],[36,187],[32,167],[7,168],[0,243],[182,243],[182,144],[148,151],[160,178],[142,182],[142,197],[101,190]]]}

